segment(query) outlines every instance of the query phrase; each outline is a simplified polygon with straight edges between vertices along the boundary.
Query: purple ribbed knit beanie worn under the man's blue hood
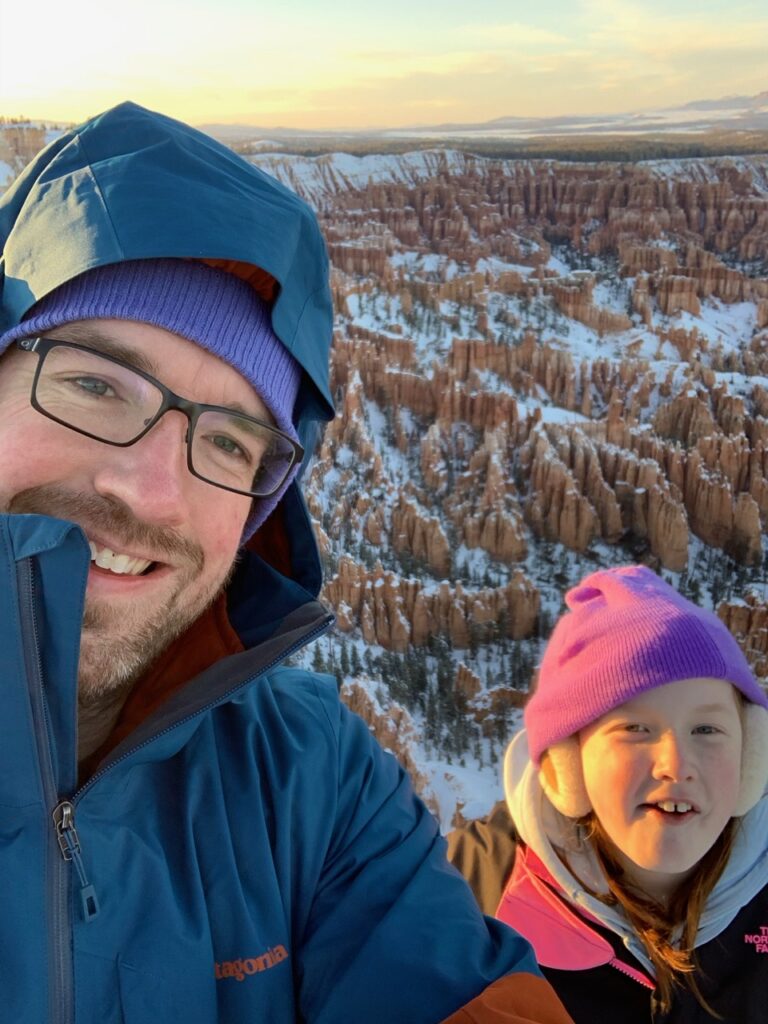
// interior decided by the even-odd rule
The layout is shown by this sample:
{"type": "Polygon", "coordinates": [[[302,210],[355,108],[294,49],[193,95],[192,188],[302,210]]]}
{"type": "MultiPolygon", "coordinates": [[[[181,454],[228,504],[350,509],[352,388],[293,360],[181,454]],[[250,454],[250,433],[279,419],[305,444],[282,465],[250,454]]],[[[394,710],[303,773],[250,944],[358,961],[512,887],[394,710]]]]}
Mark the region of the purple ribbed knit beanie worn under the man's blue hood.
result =
{"type": "MultiPolygon", "coordinates": [[[[128,260],[87,270],[44,296],[0,336],[0,354],[18,338],[73,321],[129,319],[165,328],[232,366],[253,386],[274,422],[298,443],[293,409],[301,367],[272,331],[269,307],[231,273],[195,260],[128,260]]],[[[243,541],[278,505],[283,487],[254,499],[243,541]]]]}

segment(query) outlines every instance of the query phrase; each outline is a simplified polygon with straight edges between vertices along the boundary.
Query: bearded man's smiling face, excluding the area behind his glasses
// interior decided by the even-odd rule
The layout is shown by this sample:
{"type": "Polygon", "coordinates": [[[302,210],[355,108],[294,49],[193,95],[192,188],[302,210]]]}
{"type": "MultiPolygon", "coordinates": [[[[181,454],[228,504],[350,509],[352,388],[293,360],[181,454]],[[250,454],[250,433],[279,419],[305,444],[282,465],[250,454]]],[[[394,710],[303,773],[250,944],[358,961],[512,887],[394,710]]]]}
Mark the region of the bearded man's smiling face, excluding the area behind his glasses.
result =
{"type": "MultiPolygon", "coordinates": [[[[232,367],[162,328],[88,321],[48,332],[137,362],[177,394],[271,422],[232,367]]],[[[167,413],[130,447],[63,427],[30,404],[38,356],[0,358],[0,511],[71,519],[91,543],[80,655],[81,695],[133,682],[216,597],[251,500],[186,466],[186,418],[167,413]]]]}

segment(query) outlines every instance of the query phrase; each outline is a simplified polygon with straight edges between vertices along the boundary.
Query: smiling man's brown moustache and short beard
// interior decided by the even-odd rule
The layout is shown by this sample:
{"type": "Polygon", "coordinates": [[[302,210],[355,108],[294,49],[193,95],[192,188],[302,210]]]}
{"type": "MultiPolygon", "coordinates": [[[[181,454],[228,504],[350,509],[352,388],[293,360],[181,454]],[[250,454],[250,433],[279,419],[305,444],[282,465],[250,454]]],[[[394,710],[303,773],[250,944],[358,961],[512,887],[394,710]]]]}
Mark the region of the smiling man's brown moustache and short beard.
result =
{"type": "Polygon", "coordinates": [[[95,494],[72,494],[58,486],[30,487],[8,502],[13,513],[39,513],[70,519],[98,537],[119,539],[121,548],[132,547],[167,556],[186,565],[164,606],[148,615],[140,599],[125,607],[86,597],[80,645],[78,685],[81,703],[98,702],[108,695],[126,692],[152,663],[215,600],[228,579],[212,581],[191,603],[183,604],[186,591],[202,572],[205,556],[200,545],[175,530],[153,526],[134,518],[122,502],[95,494]]]}

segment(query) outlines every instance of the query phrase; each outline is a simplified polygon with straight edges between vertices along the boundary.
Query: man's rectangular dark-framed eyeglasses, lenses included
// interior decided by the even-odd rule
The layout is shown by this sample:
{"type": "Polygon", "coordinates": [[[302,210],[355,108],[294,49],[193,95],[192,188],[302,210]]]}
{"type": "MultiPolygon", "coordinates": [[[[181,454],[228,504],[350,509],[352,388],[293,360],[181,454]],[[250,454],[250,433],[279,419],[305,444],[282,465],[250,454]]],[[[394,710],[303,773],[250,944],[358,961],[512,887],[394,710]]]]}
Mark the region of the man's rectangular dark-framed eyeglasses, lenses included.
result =
{"type": "Polygon", "coordinates": [[[188,420],[186,464],[201,480],[252,498],[268,498],[304,453],[282,430],[223,406],[174,394],[122,359],[55,338],[22,338],[39,356],[32,406],[43,416],[105,444],[127,447],[169,410],[188,420]]]}

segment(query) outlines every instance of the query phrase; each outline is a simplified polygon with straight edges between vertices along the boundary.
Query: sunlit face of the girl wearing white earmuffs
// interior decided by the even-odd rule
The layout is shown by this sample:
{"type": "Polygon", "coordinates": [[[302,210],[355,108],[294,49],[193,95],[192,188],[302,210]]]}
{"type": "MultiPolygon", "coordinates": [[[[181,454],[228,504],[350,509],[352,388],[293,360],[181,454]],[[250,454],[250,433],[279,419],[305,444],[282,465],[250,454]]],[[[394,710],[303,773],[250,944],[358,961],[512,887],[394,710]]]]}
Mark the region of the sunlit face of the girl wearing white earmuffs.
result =
{"type": "Polygon", "coordinates": [[[741,716],[730,683],[642,693],[579,734],[587,793],[629,878],[665,899],[733,816],[741,716]]]}

